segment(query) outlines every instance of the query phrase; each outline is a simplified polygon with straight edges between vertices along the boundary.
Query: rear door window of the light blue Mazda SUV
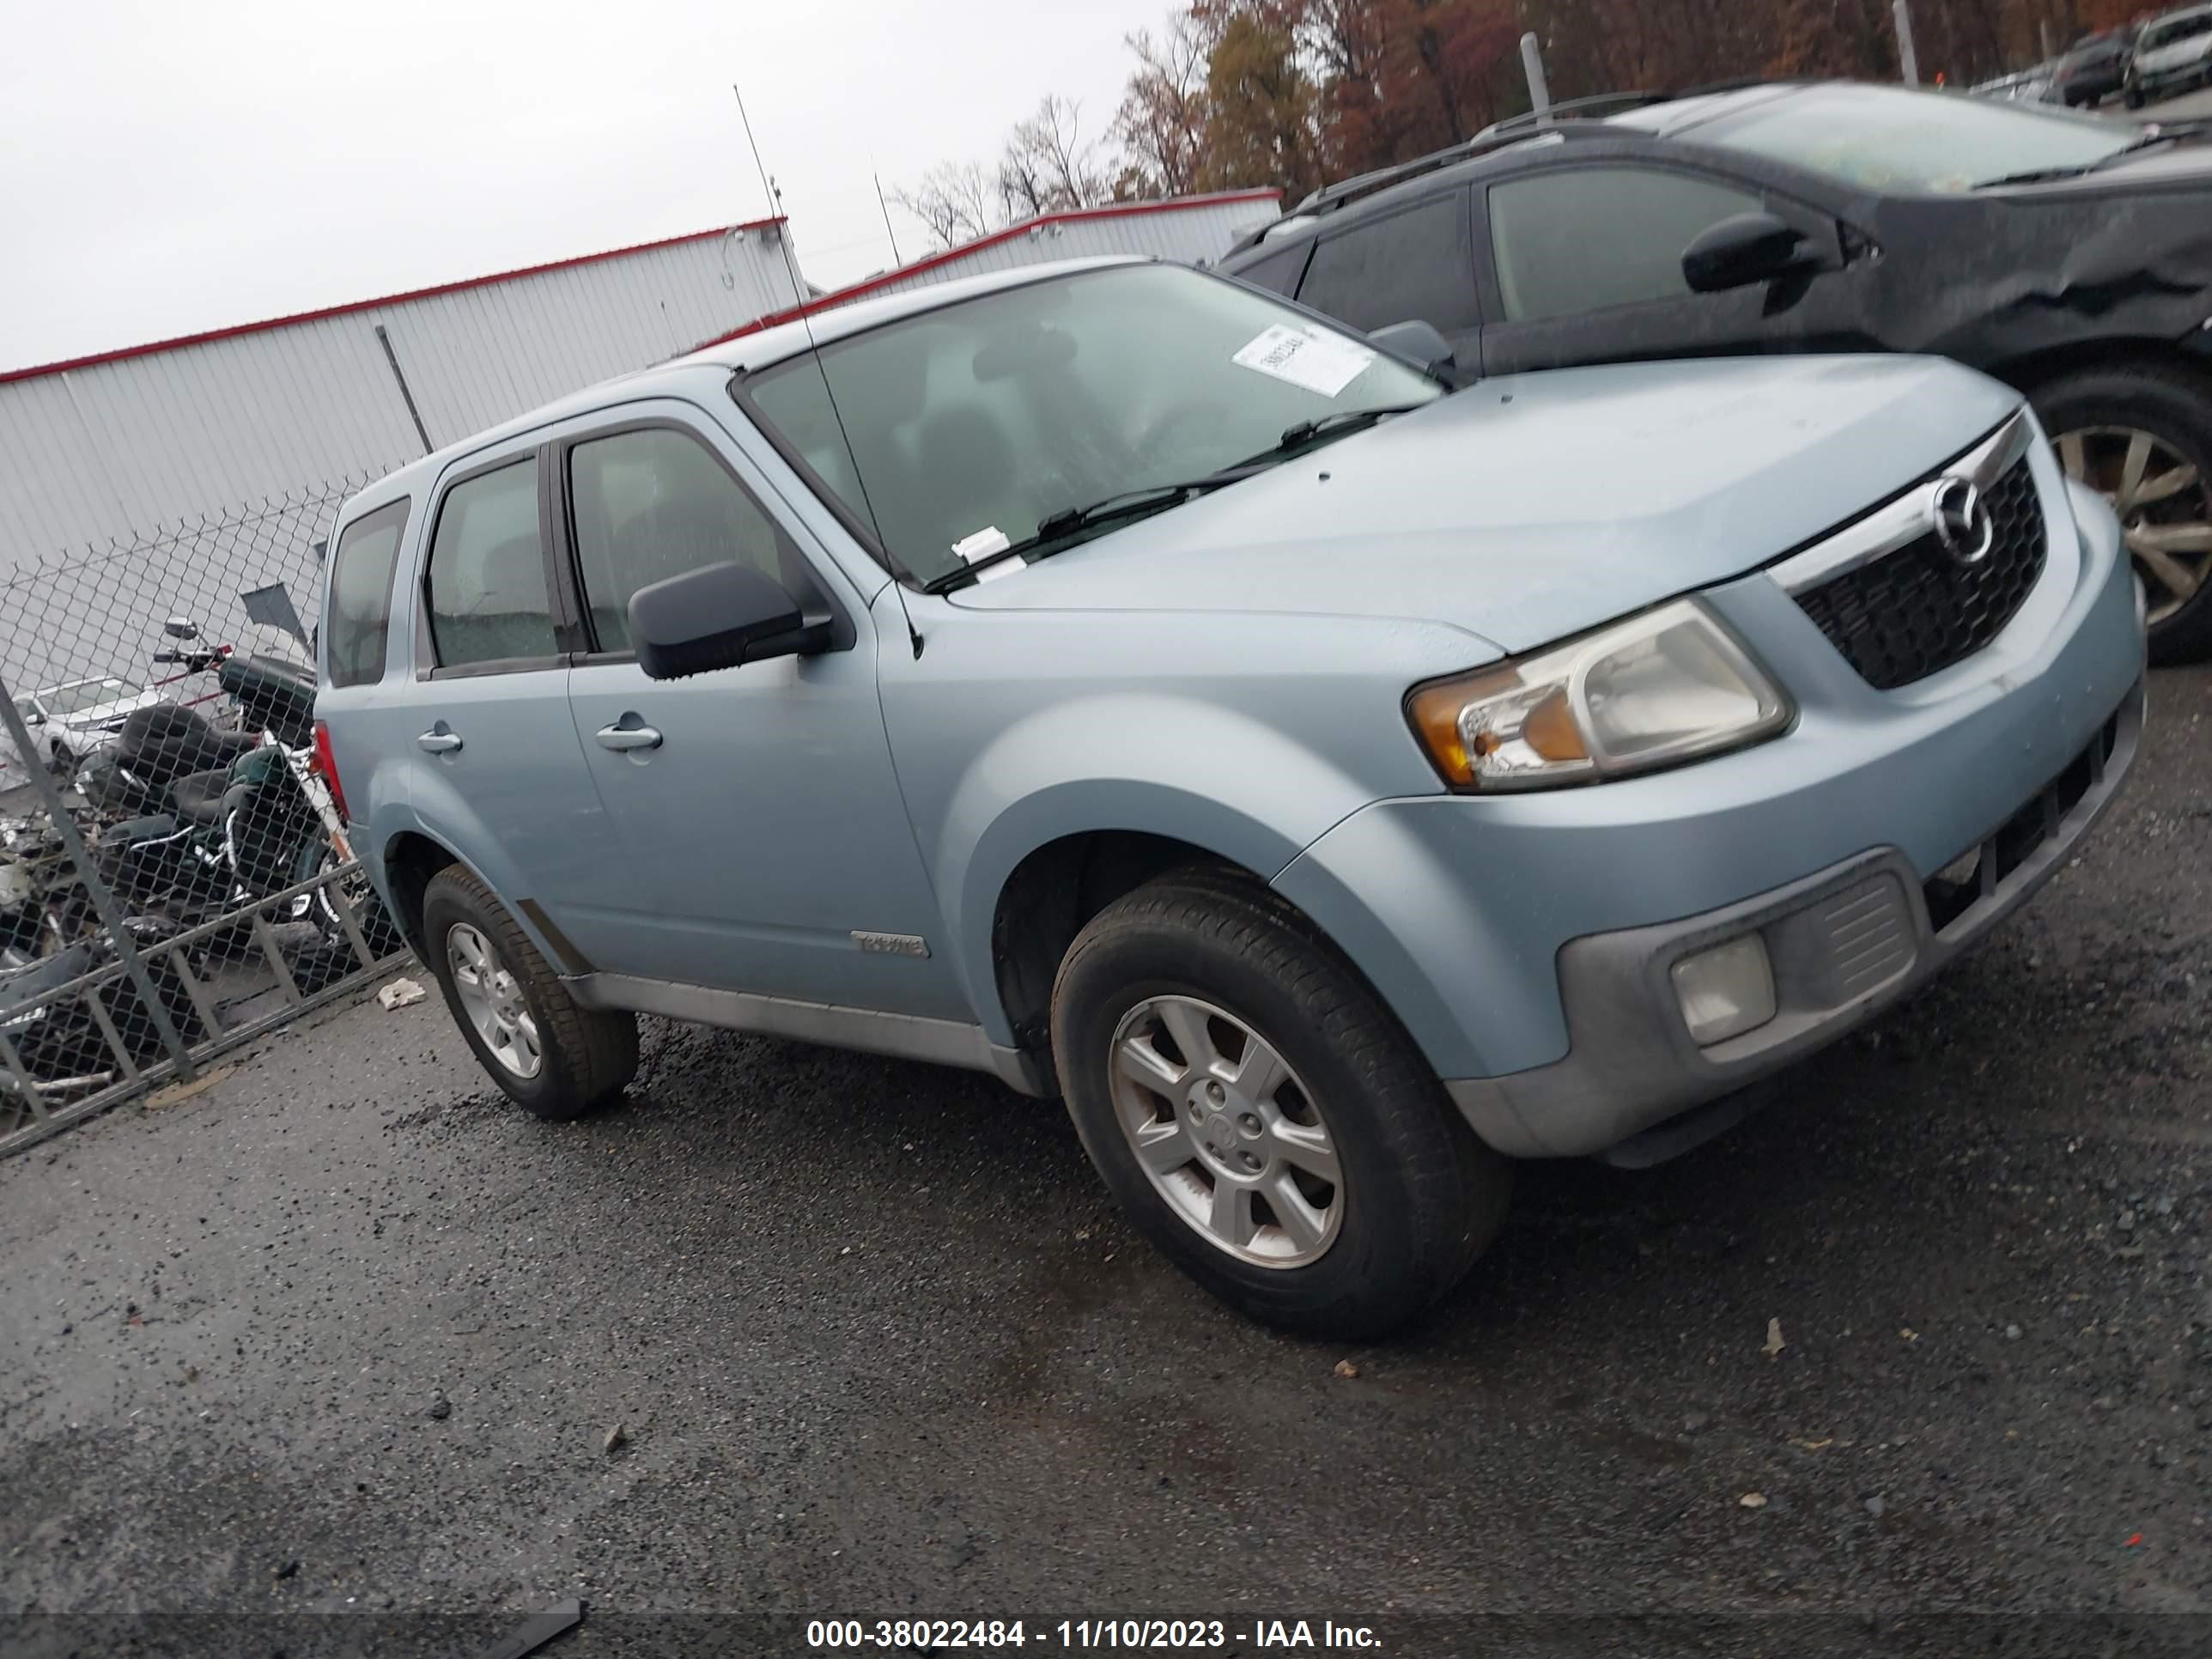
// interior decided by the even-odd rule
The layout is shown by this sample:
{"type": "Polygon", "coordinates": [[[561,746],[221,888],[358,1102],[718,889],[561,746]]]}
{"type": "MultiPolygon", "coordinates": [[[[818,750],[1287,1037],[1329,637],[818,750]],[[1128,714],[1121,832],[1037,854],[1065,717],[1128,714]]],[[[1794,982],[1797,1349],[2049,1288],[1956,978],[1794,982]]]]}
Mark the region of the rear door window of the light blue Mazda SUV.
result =
{"type": "Polygon", "coordinates": [[[445,493],[429,549],[429,637],[440,668],[560,650],[538,535],[535,456],[445,493]]]}

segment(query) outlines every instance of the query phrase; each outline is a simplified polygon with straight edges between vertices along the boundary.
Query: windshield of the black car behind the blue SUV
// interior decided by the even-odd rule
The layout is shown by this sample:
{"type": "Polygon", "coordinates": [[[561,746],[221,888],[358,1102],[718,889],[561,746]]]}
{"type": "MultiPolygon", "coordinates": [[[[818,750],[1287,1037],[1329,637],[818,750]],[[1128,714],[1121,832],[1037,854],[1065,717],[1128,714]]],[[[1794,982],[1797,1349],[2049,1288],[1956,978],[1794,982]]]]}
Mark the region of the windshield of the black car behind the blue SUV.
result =
{"type": "Polygon", "coordinates": [[[2119,155],[2139,126],[1900,86],[1812,86],[1694,128],[1699,142],[1827,173],[1860,190],[1955,195],[2015,173],[2119,155]]]}

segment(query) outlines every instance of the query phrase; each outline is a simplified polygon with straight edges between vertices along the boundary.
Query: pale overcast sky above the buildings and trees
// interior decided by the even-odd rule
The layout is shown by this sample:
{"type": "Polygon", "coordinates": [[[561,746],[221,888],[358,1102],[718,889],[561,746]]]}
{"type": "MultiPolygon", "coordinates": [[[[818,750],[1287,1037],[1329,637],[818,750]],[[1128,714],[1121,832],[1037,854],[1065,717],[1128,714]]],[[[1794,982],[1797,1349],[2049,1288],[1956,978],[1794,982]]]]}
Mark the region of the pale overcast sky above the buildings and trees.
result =
{"type": "MultiPolygon", "coordinates": [[[[0,369],[768,212],[891,263],[885,190],[1048,93],[1113,119],[1168,0],[75,0],[0,51],[0,369]]],[[[920,228],[891,210],[898,252],[920,228]]]]}

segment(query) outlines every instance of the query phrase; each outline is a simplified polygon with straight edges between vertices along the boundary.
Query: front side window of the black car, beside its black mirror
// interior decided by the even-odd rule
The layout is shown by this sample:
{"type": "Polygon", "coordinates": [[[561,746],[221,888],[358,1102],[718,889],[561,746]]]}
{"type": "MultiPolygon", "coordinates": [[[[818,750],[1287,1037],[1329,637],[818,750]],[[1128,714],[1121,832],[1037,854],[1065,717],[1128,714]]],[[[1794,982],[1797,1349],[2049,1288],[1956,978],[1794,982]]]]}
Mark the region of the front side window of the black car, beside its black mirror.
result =
{"type": "Polygon", "coordinates": [[[1491,250],[1506,321],[1688,299],[1681,254],[1761,201],[1661,168],[1555,168],[1491,186],[1491,250]]]}

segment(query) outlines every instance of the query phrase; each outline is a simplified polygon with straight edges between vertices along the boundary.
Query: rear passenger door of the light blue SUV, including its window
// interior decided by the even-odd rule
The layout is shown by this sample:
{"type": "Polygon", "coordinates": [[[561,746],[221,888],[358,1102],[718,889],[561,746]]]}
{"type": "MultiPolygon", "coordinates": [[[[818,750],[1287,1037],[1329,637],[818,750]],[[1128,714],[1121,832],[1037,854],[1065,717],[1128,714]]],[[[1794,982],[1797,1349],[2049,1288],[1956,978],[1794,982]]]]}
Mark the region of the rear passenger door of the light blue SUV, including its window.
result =
{"type": "Polygon", "coordinates": [[[577,971],[615,942],[630,876],[568,717],[549,467],[522,438],[440,480],[396,737],[414,814],[577,971]]]}

